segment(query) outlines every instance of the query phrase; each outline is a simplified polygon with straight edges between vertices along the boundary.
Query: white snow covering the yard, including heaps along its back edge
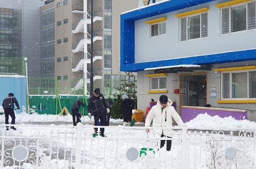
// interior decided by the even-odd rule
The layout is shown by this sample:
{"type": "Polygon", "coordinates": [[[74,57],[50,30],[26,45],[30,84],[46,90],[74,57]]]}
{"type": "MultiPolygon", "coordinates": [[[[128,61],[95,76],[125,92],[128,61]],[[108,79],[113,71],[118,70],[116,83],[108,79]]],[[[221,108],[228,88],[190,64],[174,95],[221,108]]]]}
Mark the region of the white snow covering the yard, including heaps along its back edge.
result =
{"type": "MultiPolygon", "coordinates": [[[[4,128],[4,115],[0,116],[0,121],[2,122],[2,128],[4,128]]],[[[58,116],[58,115],[38,115],[36,113],[32,115],[28,115],[26,113],[16,114],[16,122],[18,123],[37,123],[37,122],[48,122],[55,123],[56,122],[71,122],[72,123],[72,116],[58,116]]],[[[83,122],[90,122],[88,117],[82,118],[83,122]]],[[[114,120],[111,119],[113,123],[121,123],[122,120],[114,120]]],[[[57,137],[57,133],[65,133],[65,132],[75,132],[76,128],[73,128],[73,125],[68,123],[67,125],[51,125],[49,126],[40,126],[41,132],[47,132],[51,130],[54,131],[53,135],[57,137]]],[[[207,114],[198,115],[194,120],[185,123],[188,128],[200,128],[204,130],[216,129],[216,128],[224,128],[228,130],[229,128],[236,128],[236,129],[256,129],[256,123],[250,122],[248,120],[238,121],[231,117],[228,118],[220,118],[218,116],[211,117],[207,114]]],[[[176,135],[173,136],[172,141],[172,150],[170,152],[166,152],[165,148],[159,149],[159,136],[157,136],[154,131],[151,130],[150,135],[148,138],[150,140],[147,141],[147,136],[145,133],[144,128],[134,127],[134,128],[122,128],[121,126],[116,126],[117,128],[106,128],[105,134],[108,136],[106,138],[102,138],[100,136],[96,138],[92,138],[93,128],[91,125],[84,125],[83,126],[83,138],[82,138],[82,146],[81,146],[81,155],[82,155],[82,168],[146,168],[146,165],[150,165],[149,168],[180,168],[181,164],[181,140],[180,140],[180,133],[179,129],[176,132],[176,135]],[[157,138],[158,137],[158,138],[157,138]],[[141,138],[141,139],[140,139],[141,138]],[[136,149],[140,150],[146,145],[150,145],[151,148],[154,149],[155,153],[150,152],[150,156],[145,157],[138,157],[136,161],[129,161],[126,158],[126,151],[130,147],[135,147],[136,149]],[[150,163],[146,162],[147,158],[150,158],[150,163]],[[168,160],[166,160],[168,159],[168,160]],[[115,166],[115,167],[113,167],[115,166]]],[[[8,137],[18,136],[19,134],[23,136],[29,136],[31,133],[36,133],[39,126],[27,126],[24,124],[19,125],[17,127],[17,131],[5,131],[5,134],[8,137]]],[[[65,134],[64,134],[65,135],[65,134]]],[[[55,168],[69,168],[68,166],[74,166],[74,159],[75,159],[75,140],[76,138],[72,138],[72,134],[66,134],[69,136],[68,138],[53,138],[51,141],[51,151],[52,151],[52,158],[49,158],[50,147],[47,147],[47,144],[40,144],[39,145],[39,155],[41,155],[40,167],[37,168],[48,168],[48,169],[55,169],[55,168]],[[44,154],[45,155],[42,155],[44,154]],[[58,155],[59,154],[59,155],[58,155]],[[72,155],[71,155],[72,154],[72,155]],[[58,155],[58,156],[57,156],[58,155]],[[65,157],[64,157],[65,156],[65,157]],[[73,156],[73,157],[72,157],[73,156]],[[58,157],[58,158],[57,158],[58,157]],[[57,158],[57,159],[56,159],[57,158]],[[71,160],[71,158],[73,160],[71,160]],[[73,161],[73,162],[71,162],[73,161]]],[[[209,168],[209,166],[213,166],[211,164],[212,157],[211,155],[216,153],[213,152],[218,147],[218,152],[220,156],[214,160],[214,162],[222,162],[224,160],[225,166],[231,166],[229,168],[233,168],[234,166],[239,166],[239,168],[243,168],[241,166],[254,166],[255,160],[255,153],[256,147],[254,144],[255,140],[249,140],[247,142],[246,139],[241,140],[237,135],[229,135],[226,134],[225,140],[222,142],[217,142],[216,140],[209,140],[209,135],[207,136],[206,132],[197,133],[189,132],[188,133],[188,159],[187,164],[189,168],[209,168]],[[246,146],[245,146],[246,145],[246,146]],[[254,146],[253,146],[254,145],[254,146]],[[214,147],[212,147],[214,146],[214,147]],[[236,160],[230,161],[231,164],[227,164],[225,159],[225,152],[228,148],[235,148],[237,150],[236,160]],[[224,153],[224,155],[223,155],[224,153]],[[244,156],[243,154],[247,153],[250,156],[244,156]],[[249,160],[249,162],[243,163],[245,160],[249,160]],[[242,161],[242,162],[241,162],[242,161]],[[251,164],[252,163],[252,164],[251,164]]],[[[17,138],[16,138],[17,139],[17,138]]],[[[17,139],[17,143],[18,144],[17,139]]],[[[21,140],[21,139],[20,139],[21,140]]],[[[31,140],[28,138],[24,138],[22,145],[24,143],[33,143],[33,135],[31,136],[31,140]]],[[[35,143],[35,142],[34,142],[35,143]]],[[[27,146],[31,150],[35,150],[36,143],[27,146]]],[[[256,163],[256,162],[255,162],[256,163]]],[[[219,165],[218,167],[221,168],[223,165],[219,165]]],[[[5,167],[5,168],[13,168],[13,166],[5,167]]],[[[27,166],[23,166],[22,168],[34,168],[30,167],[29,164],[27,166]]]]}

